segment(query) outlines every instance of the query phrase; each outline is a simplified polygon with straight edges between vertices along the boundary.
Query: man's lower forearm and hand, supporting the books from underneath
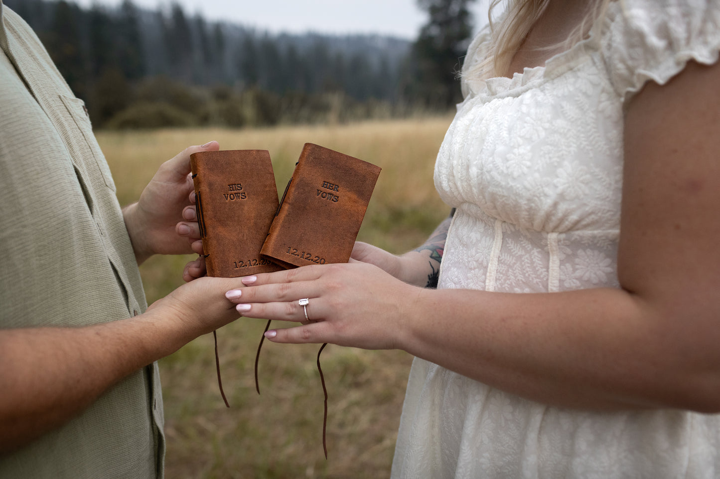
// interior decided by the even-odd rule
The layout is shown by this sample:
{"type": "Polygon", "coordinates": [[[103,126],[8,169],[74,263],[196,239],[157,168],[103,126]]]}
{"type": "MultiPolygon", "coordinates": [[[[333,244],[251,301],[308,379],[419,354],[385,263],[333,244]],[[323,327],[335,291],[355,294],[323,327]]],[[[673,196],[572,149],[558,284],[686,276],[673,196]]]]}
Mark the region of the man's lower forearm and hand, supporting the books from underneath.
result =
{"type": "Polygon", "coordinates": [[[0,329],[0,461],[122,378],[236,319],[225,292],[241,286],[240,278],[201,278],[120,321],[0,329]]]}

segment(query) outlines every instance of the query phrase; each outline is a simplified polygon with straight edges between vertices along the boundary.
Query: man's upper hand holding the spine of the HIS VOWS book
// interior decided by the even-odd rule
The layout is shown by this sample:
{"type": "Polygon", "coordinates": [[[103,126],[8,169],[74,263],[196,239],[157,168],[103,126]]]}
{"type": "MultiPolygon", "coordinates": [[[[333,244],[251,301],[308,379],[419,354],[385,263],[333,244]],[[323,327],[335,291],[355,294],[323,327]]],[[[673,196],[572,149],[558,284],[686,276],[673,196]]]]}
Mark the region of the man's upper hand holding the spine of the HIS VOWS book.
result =
{"type": "Polygon", "coordinates": [[[199,242],[200,234],[194,209],[190,155],[219,149],[215,141],[187,147],[160,166],[137,203],[123,209],[138,265],[156,254],[197,252],[193,243],[199,242]]]}

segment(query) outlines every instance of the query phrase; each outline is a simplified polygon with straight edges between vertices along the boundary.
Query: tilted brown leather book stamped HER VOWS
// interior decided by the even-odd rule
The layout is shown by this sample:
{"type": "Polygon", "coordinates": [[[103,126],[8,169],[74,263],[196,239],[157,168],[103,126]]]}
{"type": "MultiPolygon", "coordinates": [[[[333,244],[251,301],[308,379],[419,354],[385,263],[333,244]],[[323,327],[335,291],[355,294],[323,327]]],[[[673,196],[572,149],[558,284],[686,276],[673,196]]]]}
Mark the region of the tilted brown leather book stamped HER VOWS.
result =
{"type": "Polygon", "coordinates": [[[261,250],[284,268],[347,263],[380,168],[305,143],[261,250]]]}

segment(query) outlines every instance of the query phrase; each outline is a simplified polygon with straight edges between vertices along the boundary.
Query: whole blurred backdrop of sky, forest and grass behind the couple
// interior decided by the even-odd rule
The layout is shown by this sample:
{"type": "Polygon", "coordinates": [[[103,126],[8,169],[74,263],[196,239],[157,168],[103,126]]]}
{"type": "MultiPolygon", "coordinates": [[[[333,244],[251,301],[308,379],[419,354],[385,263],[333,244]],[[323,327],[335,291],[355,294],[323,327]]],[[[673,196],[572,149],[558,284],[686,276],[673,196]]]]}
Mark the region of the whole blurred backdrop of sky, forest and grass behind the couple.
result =
{"type": "MultiPolygon", "coordinates": [[[[433,164],[461,94],[456,73],[487,3],[405,1],[3,0],[35,29],[86,102],[120,204],[188,145],[269,150],[284,191],[314,142],[382,168],[358,239],[395,254],[448,214],[433,164]]],[[[140,268],[148,303],[182,284],[192,255],[140,268]]],[[[159,362],[166,477],[383,478],[412,357],[328,345],[328,460],[317,345],[265,342],[263,320],[159,362]]],[[[274,324],[274,327],[283,327],[274,324]]]]}

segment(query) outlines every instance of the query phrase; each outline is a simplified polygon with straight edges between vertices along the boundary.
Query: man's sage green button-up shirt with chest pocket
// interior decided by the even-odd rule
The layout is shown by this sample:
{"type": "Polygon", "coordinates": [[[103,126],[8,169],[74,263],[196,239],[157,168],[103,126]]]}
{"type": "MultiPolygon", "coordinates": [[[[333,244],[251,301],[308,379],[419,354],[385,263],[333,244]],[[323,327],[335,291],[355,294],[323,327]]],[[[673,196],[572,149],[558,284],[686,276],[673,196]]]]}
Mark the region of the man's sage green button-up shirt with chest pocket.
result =
{"type": "MultiPolygon", "coordinates": [[[[83,326],[145,311],[112,175],[84,103],[2,0],[0,48],[0,328],[83,326]]],[[[0,478],[161,477],[162,429],[153,364],[80,416],[0,457],[0,478]]]]}

